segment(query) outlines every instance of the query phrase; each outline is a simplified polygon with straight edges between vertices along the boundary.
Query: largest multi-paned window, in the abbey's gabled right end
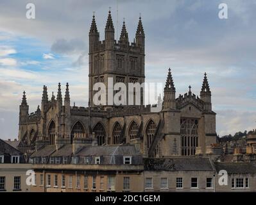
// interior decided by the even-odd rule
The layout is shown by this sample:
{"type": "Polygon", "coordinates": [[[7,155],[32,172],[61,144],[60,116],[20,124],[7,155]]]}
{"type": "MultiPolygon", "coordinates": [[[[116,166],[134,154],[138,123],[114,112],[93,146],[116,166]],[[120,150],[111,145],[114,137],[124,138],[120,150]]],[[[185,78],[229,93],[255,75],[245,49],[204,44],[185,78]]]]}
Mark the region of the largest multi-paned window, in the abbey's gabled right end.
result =
{"type": "Polygon", "coordinates": [[[190,156],[196,154],[196,147],[198,147],[198,120],[181,119],[180,135],[182,137],[182,155],[190,156]]]}

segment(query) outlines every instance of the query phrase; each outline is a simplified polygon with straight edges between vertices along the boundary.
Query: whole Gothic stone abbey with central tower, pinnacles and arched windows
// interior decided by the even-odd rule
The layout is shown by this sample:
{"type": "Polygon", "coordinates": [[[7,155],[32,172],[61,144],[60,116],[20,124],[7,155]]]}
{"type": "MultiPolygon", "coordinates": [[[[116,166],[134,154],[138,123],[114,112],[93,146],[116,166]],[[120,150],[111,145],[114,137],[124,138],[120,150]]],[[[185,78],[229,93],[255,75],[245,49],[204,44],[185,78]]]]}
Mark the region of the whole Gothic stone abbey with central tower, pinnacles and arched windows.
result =
{"type": "MultiPolygon", "coordinates": [[[[71,105],[69,84],[58,84],[51,97],[47,86],[42,102],[29,113],[26,94],[19,107],[19,140],[34,151],[51,145],[60,149],[79,147],[128,146],[143,158],[169,156],[205,156],[213,152],[216,144],[216,113],[212,111],[211,91],[207,74],[202,74],[200,97],[191,86],[185,94],[176,94],[175,79],[166,70],[162,110],[152,112],[151,105],[96,106],[93,101],[94,83],[113,78],[114,83],[144,83],[145,33],[141,17],[135,38],[129,41],[125,22],[119,40],[111,12],[105,26],[105,40],[99,40],[96,19],[92,17],[89,31],[89,105],[71,105]]],[[[143,98],[143,95],[141,96],[143,98]]],[[[29,96],[28,96],[29,98],[29,96]]],[[[105,149],[105,148],[103,148],[105,149]]],[[[73,153],[74,154],[74,153],[73,153]]]]}

